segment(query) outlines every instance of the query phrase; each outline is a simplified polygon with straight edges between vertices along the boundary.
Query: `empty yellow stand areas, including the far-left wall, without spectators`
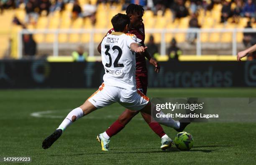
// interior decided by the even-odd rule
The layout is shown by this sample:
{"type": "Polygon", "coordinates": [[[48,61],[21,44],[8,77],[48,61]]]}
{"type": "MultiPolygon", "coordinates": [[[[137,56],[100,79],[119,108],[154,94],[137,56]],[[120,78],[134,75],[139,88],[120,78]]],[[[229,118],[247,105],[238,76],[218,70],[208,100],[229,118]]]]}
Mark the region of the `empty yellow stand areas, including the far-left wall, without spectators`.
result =
{"type": "MultiPolygon", "coordinates": [[[[79,4],[82,7],[85,4],[88,4],[89,0],[79,0],[79,4]]],[[[91,5],[96,5],[97,0],[91,0],[91,5]]],[[[235,2],[230,2],[231,8],[236,7],[235,2]]],[[[26,19],[26,5],[25,3],[21,3],[15,9],[7,9],[4,10],[2,14],[0,14],[0,58],[5,57],[17,57],[18,55],[18,31],[21,30],[20,25],[15,25],[12,23],[13,18],[16,16],[21,23],[26,25],[28,30],[35,29],[46,29],[46,30],[54,30],[54,29],[110,29],[111,18],[117,13],[125,13],[122,10],[123,3],[99,3],[97,4],[97,10],[95,13],[96,22],[92,21],[92,18],[86,17],[77,17],[74,18],[72,16],[73,3],[72,1],[64,4],[63,10],[55,10],[47,15],[47,12],[41,12],[39,14],[38,19],[30,18],[28,23],[25,23],[26,19]],[[10,46],[11,45],[11,46],[10,46]]],[[[190,9],[190,1],[186,1],[185,6],[190,9]]],[[[222,11],[221,4],[214,4],[212,10],[204,10],[202,8],[197,10],[198,13],[198,22],[201,25],[201,29],[234,29],[234,28],[244,28],[246,27],[249,18],[240,17],[238,22],[234,21],[232,17],[228,18],[227,22],[220,23],[220,16],[222,11]]],[[[143,16],[143,22],[145,24],[146,29],[188,29],[189,28],[189,20],[190,16],[174,19],[174,14],[171,9],[167,8],[163,14],[161,10],[154,14],[154,11],[145,10],[145,14],[143,16]]],[[[255,19],[251,19],[252,28],[256,28],[255,19]]],[[[104,37],[104,33],[97,33],[94,35],[95,41],[95,55],[99,55],[97,53],[97,44],[104,37]]],[[[146,33],[145,42],[149,40],[149,33],[146,33]]],[[[161,42],[161,34],[154,33],[155,42],[160,45],[161,42]]],[[[166,33],[165,42],[166,48],[169,45],[172,37],[175,37],[179,47],[182,48],[184,54],[195,55],[196,54],[196,46],[195,44],[188,43],[186,40],[186,33],[166,33]]],[[[49,34],[35,34],[33,35],[34,40],[38,44],[38,55],[52,55],[54,35],[52,33],[49,34]]],[[[201,42],[202,42],[202,54],[219,54],[219,55],[230,55],[232,54],[232,33],[231,32],[203,32],[201,34],[201,42]]],[[[238,32],[236,34],[237,48],[241,50],[244,48],[243,46],[243,32],[238,32]]],[[[89,42],[90,42],[90,34],[77,34],[77,33],[60,33],[58,36],[59,42],[59,55],[62,56],[70,56],[71,52],[77,47],[79,44],[84,44],[85,49],[88,50],[89,42]]]]}

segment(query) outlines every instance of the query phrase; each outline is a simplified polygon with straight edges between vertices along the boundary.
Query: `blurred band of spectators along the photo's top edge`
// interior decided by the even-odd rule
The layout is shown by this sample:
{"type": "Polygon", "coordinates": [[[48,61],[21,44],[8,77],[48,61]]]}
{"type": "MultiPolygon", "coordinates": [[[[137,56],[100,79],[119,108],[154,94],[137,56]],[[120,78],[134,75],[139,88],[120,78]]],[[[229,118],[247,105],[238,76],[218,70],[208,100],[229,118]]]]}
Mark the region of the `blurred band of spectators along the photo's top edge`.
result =
{"type": "Polygon", "coordinates": [[[55,10],[63,10],[66,3],[74,3],[73,13],[78,16],[88,16],[96,12],[96,7],[100,3],[117,4],[122,3],[122,9],[130,3],[142,5],[145,10],[152,10],[154,14],[160,10],[164,15],[167,8],[174,13],[174,18],[187,17],[197,13],[198,10],[212,10],[215,4],[222,4],[221,22],[228,18],[248,17],[254,18],[256,12],[256,0],[97,0],[95,5],[90,1],[81,6],[78,0],[0,0],[0,9],[17,8],[21,3],[26,5],[27,14],[41,14],[42,11],[48,15],[55,10]],[[185,5],[189,2],[189,5],[185,5]],[[233,4],[233,6],[232,6],[233,4]]]}

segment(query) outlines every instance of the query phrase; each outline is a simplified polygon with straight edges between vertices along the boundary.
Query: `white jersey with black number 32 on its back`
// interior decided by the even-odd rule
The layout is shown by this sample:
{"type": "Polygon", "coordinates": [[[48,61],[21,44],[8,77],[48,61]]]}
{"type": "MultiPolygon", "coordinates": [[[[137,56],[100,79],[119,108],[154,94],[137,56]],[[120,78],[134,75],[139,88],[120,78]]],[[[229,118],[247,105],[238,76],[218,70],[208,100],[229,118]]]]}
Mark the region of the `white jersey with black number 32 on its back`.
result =
{"type": "Polygon", "coordinates": [[[131,43],[136,43],[136,36],[122,32],[112,32],[101,43],[103,76],[106,85],[136,90],[135,53],[130,50],[131,43]]]}

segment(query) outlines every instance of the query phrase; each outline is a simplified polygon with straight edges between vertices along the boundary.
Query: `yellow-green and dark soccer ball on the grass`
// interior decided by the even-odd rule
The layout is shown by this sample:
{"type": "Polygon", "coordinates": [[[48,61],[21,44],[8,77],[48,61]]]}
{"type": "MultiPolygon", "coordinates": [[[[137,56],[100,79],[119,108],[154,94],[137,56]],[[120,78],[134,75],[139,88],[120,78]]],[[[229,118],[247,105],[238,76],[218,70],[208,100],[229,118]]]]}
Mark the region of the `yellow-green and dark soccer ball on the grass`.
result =
{"type": "Polygon", "coordinates": [[[179,150],[190,150],[194,145],[194,138],[190,133],[181,132],[174,138],[174,144],[179,150]]]}

